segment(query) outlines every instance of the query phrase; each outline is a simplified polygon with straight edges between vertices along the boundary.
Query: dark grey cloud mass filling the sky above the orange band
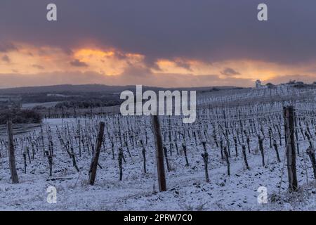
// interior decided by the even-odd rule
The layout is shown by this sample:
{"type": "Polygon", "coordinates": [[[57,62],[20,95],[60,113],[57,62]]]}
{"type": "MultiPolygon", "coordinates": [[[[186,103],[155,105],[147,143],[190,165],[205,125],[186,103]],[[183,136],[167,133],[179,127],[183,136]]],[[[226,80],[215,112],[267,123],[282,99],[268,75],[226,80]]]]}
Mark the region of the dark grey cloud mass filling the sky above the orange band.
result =
{"type": "Polygon", "coordinates": [[[0,43],[69,51],[93,40],[141,53],[152,67],[158,58],[178,57],[295,64],[316,58],[315,8],[315,0],[2,0],[0,43]],[[58,21],[48,23],[51,2],[58,6],[58,21]],[[256,19],[260,3],[268,4],[267,22],[256,19]]]}

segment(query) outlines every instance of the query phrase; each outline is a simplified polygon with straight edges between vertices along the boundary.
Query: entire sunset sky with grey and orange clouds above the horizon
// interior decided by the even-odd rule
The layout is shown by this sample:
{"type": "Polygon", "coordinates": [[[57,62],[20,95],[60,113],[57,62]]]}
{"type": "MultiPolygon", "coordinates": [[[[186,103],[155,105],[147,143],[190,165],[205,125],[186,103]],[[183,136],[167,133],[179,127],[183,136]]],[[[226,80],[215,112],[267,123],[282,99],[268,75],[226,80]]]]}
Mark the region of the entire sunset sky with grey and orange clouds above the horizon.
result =
{"type": "Polygon", "coordinates": [[[0,87],[316,81],[315,0],[1,0],[0,87]],[[46,6],[58,6],[58,21],[46,6]],[[268,5],[268,21],[257,6],[268,5]]]}

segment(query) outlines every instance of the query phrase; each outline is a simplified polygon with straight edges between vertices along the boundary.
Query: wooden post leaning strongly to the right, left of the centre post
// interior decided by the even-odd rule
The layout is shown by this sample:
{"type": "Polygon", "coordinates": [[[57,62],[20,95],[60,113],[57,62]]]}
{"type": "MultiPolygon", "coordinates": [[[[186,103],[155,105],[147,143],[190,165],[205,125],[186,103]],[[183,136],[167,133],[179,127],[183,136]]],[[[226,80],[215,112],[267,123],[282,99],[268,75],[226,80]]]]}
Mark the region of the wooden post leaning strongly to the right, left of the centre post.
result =
{"type": "Polygon", "coordinates": [[[101,149],[102,141],[103,141],[104,127],[105,127],[105,123],[100,122],[99,131],[98,131],[98,138],[96,140],[96,150],[94,151],[94,155],[93,155],[90,170],[89,170],[89,184],[91,184],[91,185],[94,184],[94,181],[96,179],[96,169],[98,167],[100,149],[101,149]]]}

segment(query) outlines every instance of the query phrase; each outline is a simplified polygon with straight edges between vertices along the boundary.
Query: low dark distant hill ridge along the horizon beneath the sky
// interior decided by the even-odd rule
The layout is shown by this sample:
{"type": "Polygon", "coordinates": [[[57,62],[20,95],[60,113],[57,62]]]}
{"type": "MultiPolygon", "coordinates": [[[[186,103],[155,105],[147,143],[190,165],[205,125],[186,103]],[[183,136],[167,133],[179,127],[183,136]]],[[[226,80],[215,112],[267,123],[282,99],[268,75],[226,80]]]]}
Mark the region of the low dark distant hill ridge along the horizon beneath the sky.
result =
{"type": "MultiPolygon", "coordinates": [[[[104,93],[120,93],[124,90],[135,91],[135,85],[129,86],[108,86],[103,84],[62,84],[53,86],[25,86],[9,89],[0,89],[0,94],[39,94],[39,93],[80,93],[80,92],[104,92],[104,93]]],[[[159,88],[152,86],[143,86],[143,90],[197,90],[197,91],[217,91],[223,89],[236,89],[234,86],[204,86],[192,88],[159,88]]]]}

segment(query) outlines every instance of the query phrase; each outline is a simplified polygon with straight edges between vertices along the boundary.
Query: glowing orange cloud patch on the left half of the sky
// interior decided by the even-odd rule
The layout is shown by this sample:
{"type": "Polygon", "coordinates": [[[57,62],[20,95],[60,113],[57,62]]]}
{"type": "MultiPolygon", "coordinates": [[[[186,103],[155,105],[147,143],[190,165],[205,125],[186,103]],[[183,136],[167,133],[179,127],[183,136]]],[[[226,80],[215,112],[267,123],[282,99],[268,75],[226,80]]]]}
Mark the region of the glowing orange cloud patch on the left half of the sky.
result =
{"type": "MultiPolygon", "coordinates": [[[[115,49],[72,49],[67,53],[63,49],[50,46],[32,46],[15,44],[18,51],[6,52],[0,61],[0,73],[20,73],[32,75],[41,72],[87,72],[104,75],[119,75],[129,65],[141,65],[144,56],[137,53],[121,53],[115,49]],[[35,66],[34,66],[35,65],[35,66]],[[44,71],[43,71],[44,70],[44,71]]],[[[0,54],[1,56],[1,54],[0,54]]]]}

